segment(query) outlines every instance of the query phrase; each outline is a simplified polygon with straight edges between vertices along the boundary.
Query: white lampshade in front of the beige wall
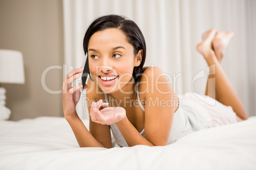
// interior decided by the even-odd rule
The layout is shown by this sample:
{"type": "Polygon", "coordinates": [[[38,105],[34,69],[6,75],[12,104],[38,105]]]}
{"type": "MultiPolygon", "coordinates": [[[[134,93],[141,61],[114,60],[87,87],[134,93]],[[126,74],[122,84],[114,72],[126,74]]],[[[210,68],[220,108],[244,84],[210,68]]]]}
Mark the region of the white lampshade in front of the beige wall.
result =
{"type": "Polygon", "coordinates": [[[24,64],[20,51],[0,49],[0,83],[24,84],[24,64]]]}

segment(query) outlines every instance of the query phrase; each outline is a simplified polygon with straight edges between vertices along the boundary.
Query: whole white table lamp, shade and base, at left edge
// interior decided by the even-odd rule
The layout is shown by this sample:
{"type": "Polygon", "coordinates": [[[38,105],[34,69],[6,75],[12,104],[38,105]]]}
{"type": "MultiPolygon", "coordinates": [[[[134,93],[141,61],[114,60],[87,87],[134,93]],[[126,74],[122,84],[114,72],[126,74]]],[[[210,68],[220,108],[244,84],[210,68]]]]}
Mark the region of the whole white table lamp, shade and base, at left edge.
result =
{"type": "MultiPolygon", "coordinates": [[[[24,84],[24,64],[22,53],[9,49],[0,49],[0,85],[1,83],[24,84]]],[[[9,119],[11,111],[5,107],[6,90],[0,86],[0,120],[9,119]]]]}

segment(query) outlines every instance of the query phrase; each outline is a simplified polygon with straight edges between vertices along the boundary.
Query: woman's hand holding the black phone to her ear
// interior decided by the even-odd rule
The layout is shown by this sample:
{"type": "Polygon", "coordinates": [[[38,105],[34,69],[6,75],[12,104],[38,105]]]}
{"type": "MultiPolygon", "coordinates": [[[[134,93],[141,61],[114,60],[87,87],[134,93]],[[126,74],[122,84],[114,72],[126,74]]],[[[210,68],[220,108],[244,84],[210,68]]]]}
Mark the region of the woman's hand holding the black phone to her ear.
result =
{"type": "MultiPolygon", "coordinates": [[[[66,76],[66,79],[63,82],[62,105],[65,117],[76,114],[76,105],[80,99],[80,88],[82,88],[82,85],[72,87],[71,84],[81,77],[82,72],[83,68],[73,70],[66,76]]],[[[85,85],[85,88],[87,88],[87,85],[85,85]]]]}

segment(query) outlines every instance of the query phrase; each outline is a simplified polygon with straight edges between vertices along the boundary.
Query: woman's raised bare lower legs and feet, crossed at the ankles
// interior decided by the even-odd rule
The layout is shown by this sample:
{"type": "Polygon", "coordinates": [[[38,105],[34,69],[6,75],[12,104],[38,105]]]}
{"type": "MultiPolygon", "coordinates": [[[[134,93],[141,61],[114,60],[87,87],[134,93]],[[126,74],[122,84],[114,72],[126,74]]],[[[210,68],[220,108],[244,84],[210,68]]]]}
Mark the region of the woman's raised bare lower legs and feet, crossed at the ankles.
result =
{"type": "Polygon", "coordinates": [[[233,32],[217,32],[211,29],[203,34],[203,41],[197,45],[197,51],[204,56],[210,68],[205,95],[231,106],[239,118],[246,120],[248,116],[245,108],[220,65],[233,34],[233,32]],[[212,78],[215,78],[215,82],[211,81],[212,78]]]}

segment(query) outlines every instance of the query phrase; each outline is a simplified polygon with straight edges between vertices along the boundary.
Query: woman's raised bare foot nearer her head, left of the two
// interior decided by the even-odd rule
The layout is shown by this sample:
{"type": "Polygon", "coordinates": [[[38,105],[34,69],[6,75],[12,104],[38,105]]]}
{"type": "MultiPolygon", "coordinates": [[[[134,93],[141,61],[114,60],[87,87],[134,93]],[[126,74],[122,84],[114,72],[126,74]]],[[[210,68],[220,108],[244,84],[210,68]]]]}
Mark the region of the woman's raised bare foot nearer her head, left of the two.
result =
{"type": "Polygon", "coordinates": [[[214,54],[213,51],[213,38],[215,37],[216,34],[216,30],[215,29],[211,29],[208,30],[207,32],[204,32],[203,34],[203,41],[200,42],[199,44],[197,44],[197,51],[199,51],[199,53],[201,53],[204,56],[204,59],[207,61],[208,60],[208,56],[210,54],[214,54]]]}

